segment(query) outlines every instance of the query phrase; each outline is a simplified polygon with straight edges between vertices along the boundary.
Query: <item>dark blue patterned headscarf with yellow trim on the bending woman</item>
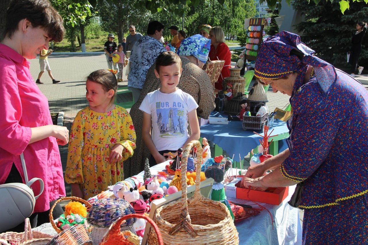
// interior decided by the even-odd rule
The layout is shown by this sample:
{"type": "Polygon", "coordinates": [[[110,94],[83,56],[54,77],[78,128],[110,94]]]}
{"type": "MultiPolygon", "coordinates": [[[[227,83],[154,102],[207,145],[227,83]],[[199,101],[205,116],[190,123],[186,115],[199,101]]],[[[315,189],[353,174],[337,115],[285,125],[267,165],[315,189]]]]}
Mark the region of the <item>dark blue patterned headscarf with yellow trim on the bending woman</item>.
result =
{"type": "Polygon", "coordinates": [[[325,93],[330,92],[337,75],[333,65],[314,56],[314,50],[300,42],[300,36],[282,31],[266,38],[259,49],[254,75],[263,79],[279,79],[292,72],[305,73],[307,65],[314,68],[316,79],[325,93]],[[291,50],[300,51],[304,57],[290,55],[291,50]]]}

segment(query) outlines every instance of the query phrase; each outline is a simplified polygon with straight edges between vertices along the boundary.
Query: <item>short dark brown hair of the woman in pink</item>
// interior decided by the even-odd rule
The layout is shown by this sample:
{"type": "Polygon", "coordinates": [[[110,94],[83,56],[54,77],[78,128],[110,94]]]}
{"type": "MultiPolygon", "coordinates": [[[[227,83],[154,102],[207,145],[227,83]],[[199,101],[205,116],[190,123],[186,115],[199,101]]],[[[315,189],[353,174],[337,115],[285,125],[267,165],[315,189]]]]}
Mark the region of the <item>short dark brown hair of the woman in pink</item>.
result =
{"type": "Polygon", "coordinates": [[[6,12],[4,36],[11,38],[22,19],[28,19],[32,27],[42,27],[51,40],[60,42],[64,38],[63,18],[48,0],[13,0],[6,12]]]}

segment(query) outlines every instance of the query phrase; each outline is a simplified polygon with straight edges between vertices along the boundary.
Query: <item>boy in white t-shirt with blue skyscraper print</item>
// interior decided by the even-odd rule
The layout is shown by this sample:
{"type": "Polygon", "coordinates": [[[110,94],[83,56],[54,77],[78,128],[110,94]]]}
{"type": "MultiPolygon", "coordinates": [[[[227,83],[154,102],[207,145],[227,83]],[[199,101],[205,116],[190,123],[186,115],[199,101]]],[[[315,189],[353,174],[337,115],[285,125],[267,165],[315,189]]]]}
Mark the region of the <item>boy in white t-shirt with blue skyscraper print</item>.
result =
{"type": "Polygon", "coordinates": [[[150,166],[166,161],[168,152],[175,153],[188,142],[199,139],[198,104],[191,95],[177,88],[181,71],[177,54],[161,53],[155,69],[161,88],[148,93],[139,106],[144,112],[142,138],[151,152],[150,166]],[[188,120],[192,135],[188,134],[188,120]]]}

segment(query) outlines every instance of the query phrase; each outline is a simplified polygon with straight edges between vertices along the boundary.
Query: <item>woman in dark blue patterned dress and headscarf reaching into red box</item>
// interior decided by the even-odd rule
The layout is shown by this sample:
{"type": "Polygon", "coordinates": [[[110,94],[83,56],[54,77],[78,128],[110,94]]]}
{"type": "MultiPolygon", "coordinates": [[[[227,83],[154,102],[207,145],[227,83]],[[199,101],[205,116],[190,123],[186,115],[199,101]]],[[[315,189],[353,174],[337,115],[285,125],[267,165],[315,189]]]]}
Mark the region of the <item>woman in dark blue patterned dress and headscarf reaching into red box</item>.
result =
{"type": "Polygon", "coordinates": [[[368,93],[313,54],[290,32],[262,43],[254,75],[291,96],[289,149],[250,167],[242,182],[261,189],[298,183],[289,203],[304,209],[303,244],[367,244],[368,93]]]}

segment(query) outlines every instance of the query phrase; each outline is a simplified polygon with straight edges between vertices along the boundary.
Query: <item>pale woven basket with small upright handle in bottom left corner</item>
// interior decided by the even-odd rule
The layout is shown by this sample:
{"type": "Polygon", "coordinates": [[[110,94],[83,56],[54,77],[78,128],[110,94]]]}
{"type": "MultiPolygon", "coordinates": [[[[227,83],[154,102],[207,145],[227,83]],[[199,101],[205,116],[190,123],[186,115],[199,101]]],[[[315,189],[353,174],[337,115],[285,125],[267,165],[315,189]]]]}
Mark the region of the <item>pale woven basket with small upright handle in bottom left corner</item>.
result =
{"type": "Polygon", "coordinates": [[[29,219],[26,218],[24,221],[24,232],[12,232],[8,231],[0,234],[0,244],[17,244],[17,245],[25,245],[25,244],[34,244],[41,245],[47,244],[53,236],[48,235],[39,231],[32,231],[31,224],[29,223],[29,219]]]}

